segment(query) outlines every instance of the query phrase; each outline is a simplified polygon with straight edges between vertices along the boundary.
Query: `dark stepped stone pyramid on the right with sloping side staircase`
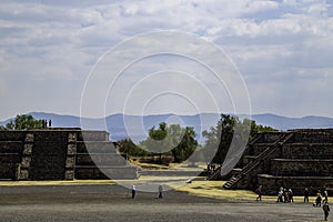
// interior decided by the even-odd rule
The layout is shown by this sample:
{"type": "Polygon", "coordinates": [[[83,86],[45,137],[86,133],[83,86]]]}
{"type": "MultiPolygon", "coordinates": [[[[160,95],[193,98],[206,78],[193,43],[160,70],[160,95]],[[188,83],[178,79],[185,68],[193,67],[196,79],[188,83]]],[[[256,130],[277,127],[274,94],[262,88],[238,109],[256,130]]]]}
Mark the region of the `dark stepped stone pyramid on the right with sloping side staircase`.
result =
{"type": "MultiPolygon", "coordinates": [[[[221,179],[218,169],[211,180],[221,179]]],[[[333,129],[292,130],[256,134],[232,170],[224,189],[254,190],[263,185],[264,194],[279,188],[292,188],[303,194],[319,189],[333,191],[333,129]]]]}

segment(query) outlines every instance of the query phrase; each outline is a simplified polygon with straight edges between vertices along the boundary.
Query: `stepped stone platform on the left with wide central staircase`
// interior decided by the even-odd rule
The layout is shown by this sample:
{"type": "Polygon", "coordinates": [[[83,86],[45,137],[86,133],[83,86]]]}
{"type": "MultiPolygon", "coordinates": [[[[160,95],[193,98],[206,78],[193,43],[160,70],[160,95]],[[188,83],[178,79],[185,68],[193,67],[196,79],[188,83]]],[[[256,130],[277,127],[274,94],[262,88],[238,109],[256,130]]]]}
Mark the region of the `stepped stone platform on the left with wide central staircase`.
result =
{"type": "Polygon", "coordinates": [[[137,179],[105,131],[0,131],[0,180],[137,179]]]}

